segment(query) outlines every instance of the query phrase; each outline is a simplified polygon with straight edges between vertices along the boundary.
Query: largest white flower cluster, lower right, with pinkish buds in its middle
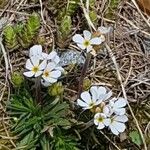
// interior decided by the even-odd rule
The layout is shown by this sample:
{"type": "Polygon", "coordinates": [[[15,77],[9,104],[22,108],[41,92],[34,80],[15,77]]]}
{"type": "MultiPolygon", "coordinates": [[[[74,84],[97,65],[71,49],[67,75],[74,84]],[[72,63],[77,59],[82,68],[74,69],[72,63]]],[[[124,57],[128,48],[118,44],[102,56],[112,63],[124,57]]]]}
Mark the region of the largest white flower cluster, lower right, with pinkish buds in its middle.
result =
{"type": "Polygon", "coordinates": [[[125,122],[128,121],[125,106],[127,100],[124,98],[111,98],[112,92],[103,86],[92,86],[89,91],[81,93],[77,100],[79,106],[84,110],[94,113],[94,124],[97,129],[109,127],[115,135],[125,131],[125,122]]]}

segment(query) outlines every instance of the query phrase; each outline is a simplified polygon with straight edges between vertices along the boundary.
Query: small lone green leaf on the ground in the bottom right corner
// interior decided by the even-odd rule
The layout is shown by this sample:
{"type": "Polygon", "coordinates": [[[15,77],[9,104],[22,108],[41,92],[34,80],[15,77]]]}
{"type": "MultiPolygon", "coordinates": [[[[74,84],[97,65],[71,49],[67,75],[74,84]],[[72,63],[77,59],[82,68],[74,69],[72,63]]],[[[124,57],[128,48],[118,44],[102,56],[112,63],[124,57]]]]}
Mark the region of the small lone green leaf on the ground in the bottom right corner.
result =
{"type": "Polygon", "coordinates": [[[138,146],[142,145],[142,139],[138,131],[135,130],[135,131],[130,132],[129,136],[133,143],[135,143],[138,146]]]}

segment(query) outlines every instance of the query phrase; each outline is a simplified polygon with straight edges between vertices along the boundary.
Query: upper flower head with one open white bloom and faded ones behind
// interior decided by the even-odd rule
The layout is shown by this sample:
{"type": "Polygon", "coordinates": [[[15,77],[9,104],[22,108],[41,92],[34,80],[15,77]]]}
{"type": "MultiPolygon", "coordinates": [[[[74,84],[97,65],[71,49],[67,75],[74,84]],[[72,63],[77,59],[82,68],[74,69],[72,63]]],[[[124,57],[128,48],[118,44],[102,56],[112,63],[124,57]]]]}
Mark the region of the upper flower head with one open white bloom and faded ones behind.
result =
{"type": "Polygon", "coordinates": [[[95,35],[87,30],[83,31],[83,36],[80,34],[75,34],[72,40],[77,44],[77,46],[86,50],[87,53],[91,53],[95,55],[95,50],[93,48],[94,45],[100,45],[105,41],[105,35],[110,32],[110,28],[99,27],[95,35]]]}

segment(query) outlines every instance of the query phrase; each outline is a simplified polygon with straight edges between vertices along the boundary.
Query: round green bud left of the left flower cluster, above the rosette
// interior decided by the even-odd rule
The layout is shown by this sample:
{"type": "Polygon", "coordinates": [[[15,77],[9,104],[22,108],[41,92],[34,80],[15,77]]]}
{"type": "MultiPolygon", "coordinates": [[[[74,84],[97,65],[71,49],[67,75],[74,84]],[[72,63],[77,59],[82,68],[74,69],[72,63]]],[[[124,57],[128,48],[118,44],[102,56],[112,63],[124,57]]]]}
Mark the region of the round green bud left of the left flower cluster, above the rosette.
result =
{"type": "Polygon", "coordinates": [[[21,73],[14,72],[11,75],[11,82],[14,85],[14,87],[20,87],[22,83],[24,82],[24,77],[21,73]]]}

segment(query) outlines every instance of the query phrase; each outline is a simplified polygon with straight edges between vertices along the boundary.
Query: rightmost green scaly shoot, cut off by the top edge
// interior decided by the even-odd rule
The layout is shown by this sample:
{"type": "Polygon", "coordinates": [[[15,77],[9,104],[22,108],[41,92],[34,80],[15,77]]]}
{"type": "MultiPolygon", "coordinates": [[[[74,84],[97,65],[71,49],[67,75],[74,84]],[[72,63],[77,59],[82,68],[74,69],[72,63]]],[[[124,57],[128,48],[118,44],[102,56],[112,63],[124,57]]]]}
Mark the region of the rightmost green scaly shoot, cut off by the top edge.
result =
{"type": "Polygon", "coordinates": [[[118,5],[121,0],[111,0],[109,8],[106,12],[106,17],[109,19],[115,19],[115,12],[117,11],[118,5]]]}

